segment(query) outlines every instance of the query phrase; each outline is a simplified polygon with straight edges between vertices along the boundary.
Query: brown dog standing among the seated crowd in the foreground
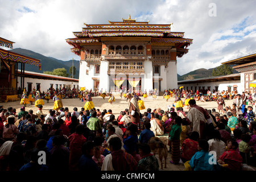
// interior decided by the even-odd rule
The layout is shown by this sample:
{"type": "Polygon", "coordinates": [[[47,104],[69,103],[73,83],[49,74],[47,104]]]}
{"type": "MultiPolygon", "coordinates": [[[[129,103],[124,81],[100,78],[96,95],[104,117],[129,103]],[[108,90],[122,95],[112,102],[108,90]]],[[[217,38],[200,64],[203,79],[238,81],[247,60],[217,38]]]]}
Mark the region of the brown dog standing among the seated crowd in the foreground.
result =
{"type": "Polygon", "coordinates": [[[167,160],[167,147],[166,144],[164,144],[163,139],[160,139],[159,137],[152,137],[148,141],[148,145],[151,148],[151,151],[154,153],[154,155],[157,153],[159,156],[159,160],[161,163],[161,169],[163,169],[163,158],[164,158],[164,168],[166,168],[166,160],[167,160]]]}

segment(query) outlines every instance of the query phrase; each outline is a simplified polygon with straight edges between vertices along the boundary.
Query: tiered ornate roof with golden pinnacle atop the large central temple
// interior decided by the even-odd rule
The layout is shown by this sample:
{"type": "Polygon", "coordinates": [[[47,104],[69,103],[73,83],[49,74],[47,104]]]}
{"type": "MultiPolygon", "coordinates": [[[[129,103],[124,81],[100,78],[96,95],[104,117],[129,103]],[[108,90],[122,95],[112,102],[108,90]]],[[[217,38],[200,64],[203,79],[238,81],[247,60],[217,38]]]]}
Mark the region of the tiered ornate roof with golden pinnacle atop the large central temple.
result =
{"type": "Polygon", "coordinates": [[[123,19],[122,22],[111,22],[109,24],[85,24],[81,32],[73,32],[75,38],[66,39],[73,46],[72,52],[80,55],[84,43],[101,42],[102,37],[151,37],[151,43],[174,43],[179,49],[177,56],[181,57],[188,52],[187,47],[192,44],[193,39],[184,38],[184,32],[172,32],[171,24],[149,24],[147,22],[136,22],[136,19],[123,19]]]}

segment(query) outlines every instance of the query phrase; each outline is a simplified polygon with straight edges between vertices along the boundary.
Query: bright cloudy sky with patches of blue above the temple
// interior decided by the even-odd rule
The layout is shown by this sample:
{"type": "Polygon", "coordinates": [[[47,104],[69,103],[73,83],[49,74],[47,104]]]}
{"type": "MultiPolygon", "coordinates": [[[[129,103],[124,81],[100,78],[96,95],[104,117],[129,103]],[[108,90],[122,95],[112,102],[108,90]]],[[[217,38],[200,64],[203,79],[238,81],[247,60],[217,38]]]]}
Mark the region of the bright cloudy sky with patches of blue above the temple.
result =
{"type": "MultiPolygon", "coordinates": [[[[79,60],[65,39],[75,38],[84,23],[122,18],[173,23],[171,31],[193,39],[189,52],[177,58],[177,73],[214,68],[224,61],[255,53],[254,0],[0,0],[0,37],[60,60],[79,60]]],[[[3,47],[1,47],[3,48],[3,47]]]]}

